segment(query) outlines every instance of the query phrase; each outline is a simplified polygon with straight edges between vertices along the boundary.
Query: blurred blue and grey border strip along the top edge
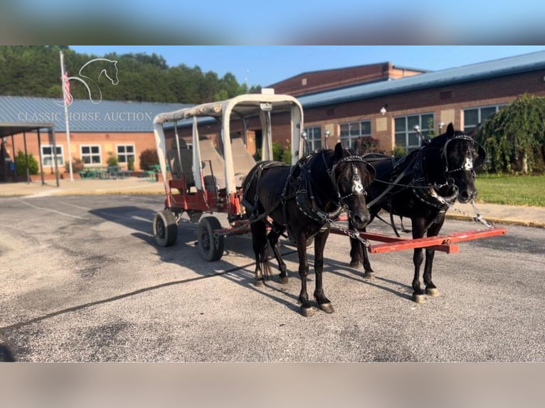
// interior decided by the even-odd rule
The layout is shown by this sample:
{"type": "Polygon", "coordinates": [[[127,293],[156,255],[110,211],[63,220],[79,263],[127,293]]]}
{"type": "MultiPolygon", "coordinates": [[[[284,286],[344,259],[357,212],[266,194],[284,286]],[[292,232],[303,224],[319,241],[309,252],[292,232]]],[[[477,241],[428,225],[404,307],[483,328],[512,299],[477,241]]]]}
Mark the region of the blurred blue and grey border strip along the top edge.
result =
{"type": "Polygon", "coordinates": [[[5,0],[0,38],[31,33],[38,36],[33,42],[49,43],[117,42],[120,36],[123,42],[203,45],[514,45],[541,42],[544,15],[542,0],[5,0]],[[75,40],[82,37],[97,41],[75,40]]]}

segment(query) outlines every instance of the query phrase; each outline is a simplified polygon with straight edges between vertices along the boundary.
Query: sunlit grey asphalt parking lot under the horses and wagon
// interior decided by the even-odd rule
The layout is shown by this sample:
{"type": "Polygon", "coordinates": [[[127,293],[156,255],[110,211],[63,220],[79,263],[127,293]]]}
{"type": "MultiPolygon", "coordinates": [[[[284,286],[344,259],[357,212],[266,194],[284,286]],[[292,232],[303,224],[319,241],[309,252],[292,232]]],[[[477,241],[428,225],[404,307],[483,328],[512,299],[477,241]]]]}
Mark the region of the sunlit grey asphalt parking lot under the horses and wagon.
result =
{"type": "MultiPolygon", "coordinates": [[[[157,247],[162,207],[161,195],[2,198],[0,333],[18,360],[544,360],[544,229],[512,225],[437,254],[441,296],[421,305],[410,300],[411,251],[371,255],[376,279],[365,281],[346,237],[331,235],[335,312],[305,318],[294,248],[282,247],[290,282],[258,288],[250,235],[229,237],[218,262],[201,259],[189,221],[174,247],[157,247]]],[[[480,227],[448,220],[443,232],[480,227]]]]}

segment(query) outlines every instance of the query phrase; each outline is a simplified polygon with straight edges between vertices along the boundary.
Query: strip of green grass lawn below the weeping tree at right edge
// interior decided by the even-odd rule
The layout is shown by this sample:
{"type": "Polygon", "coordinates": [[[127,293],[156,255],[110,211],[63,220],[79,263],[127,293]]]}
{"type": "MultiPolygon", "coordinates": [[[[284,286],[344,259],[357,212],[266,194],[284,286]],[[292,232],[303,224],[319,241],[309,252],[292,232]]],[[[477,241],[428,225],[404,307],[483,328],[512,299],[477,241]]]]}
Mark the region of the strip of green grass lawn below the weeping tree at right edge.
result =
{"type": "Polygon", "coordinates": [[[545,207],[545,175],[497,176],[478,174],[477,202],[545,207]]]}

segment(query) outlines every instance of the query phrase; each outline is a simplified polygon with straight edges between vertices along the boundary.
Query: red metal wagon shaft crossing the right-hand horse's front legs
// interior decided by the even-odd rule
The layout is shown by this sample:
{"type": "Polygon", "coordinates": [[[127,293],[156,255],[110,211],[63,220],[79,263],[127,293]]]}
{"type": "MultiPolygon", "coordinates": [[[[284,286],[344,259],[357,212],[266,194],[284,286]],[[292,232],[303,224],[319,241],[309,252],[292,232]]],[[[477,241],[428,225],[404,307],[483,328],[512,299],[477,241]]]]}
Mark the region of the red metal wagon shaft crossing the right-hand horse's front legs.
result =
{"type": "MultiPolygon", "coordinates": [[[[344,235],[344,232],[337,228],[331,229],[332,234],[344,235]]],[[[506,228],[492,228],[490,230],[471,230],[455,232],[450,235],[438,235],[436,237],[425,237],[416,240],[391,237],[389,235],[376,234],[374,232],[361,232],[359,234],[364,240],[379,241],[382,244],[369,245],[371,254],[383,252],[400,251],[401,249],[430,248],[437,251],[452,254],[458,252],[457,242],[479,240],[481,238],[494,237],[507,234],[506,228]]]]}

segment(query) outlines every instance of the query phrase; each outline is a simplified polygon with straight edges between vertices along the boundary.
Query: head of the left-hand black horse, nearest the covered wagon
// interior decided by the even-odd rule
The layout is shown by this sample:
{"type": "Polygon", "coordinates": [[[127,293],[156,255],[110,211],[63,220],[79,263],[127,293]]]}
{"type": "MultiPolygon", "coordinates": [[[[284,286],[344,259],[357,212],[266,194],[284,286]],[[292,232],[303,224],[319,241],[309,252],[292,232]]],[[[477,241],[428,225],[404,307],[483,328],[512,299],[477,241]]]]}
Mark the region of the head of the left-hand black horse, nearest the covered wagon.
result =
{"type": "Polygon", "coordinates": [[[346,207],[350,221],[358,230],[369,224],[371,215],[366,203],[366,188],[375,177],[371,164],[352,156],[338,143],[335,146],[331,177],[339,194],[339,202],[346,207]]]}

